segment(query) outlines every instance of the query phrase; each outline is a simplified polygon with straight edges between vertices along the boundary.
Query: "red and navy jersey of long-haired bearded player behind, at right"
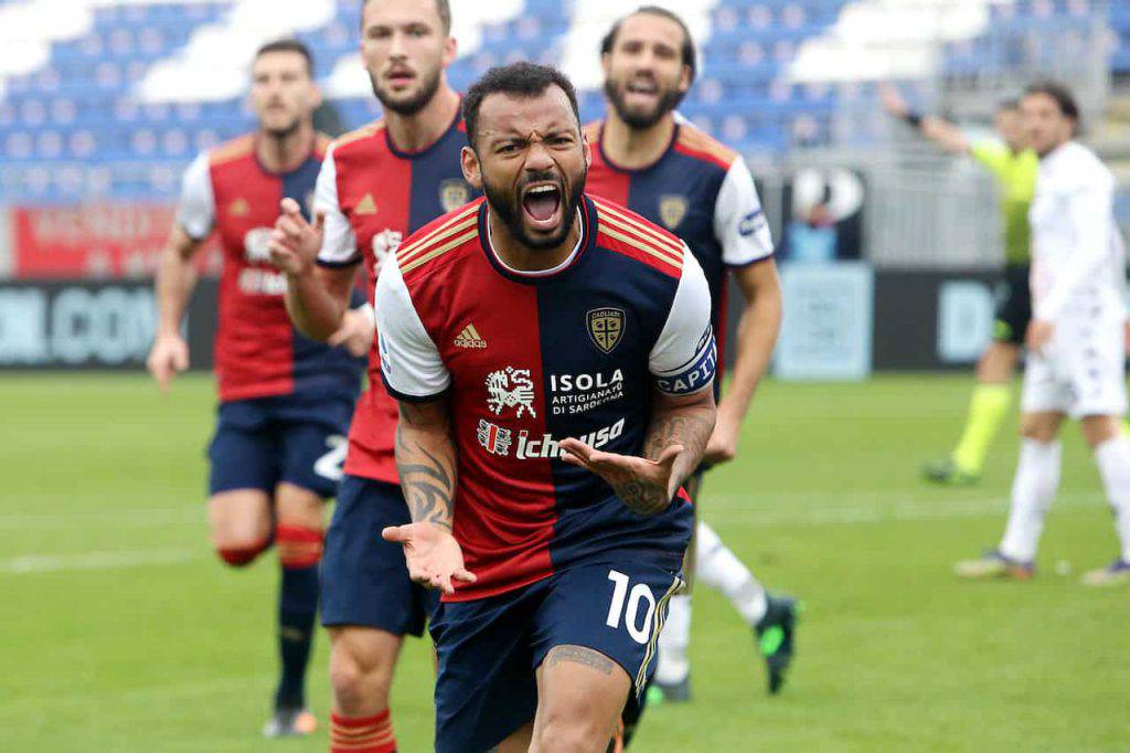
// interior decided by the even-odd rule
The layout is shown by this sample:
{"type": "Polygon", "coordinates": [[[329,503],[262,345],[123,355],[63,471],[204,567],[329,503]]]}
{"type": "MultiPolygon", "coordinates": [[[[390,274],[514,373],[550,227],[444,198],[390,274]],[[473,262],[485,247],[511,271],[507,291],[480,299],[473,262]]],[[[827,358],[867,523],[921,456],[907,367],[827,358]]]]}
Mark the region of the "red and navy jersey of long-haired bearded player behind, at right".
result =
{"type": "Polygon", "coordinates": [[[602,122],[590,123],[584,130],[592,145],[586,190],[632,209],[686,242],[710,284],[711,321],[723,349],[728,269],[773,256],[773,239],[745,161],[677,118],[662,156],[651,165],[629,170],[605,153],[602,122]]]}

